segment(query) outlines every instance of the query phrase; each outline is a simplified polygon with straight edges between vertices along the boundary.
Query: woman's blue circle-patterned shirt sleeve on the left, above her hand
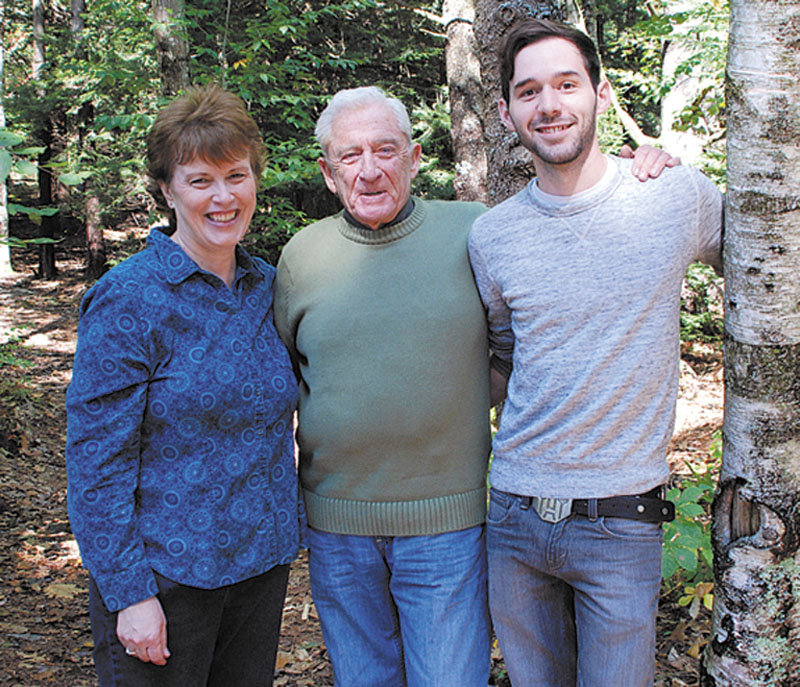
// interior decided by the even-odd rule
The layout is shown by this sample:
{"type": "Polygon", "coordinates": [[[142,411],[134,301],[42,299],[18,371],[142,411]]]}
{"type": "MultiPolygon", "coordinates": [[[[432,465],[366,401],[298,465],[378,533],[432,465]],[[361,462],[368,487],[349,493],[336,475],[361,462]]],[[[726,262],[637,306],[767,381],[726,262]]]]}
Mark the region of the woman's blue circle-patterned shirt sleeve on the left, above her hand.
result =
{"type": "Polygon", "coordinates": [[[145,328],[135,297],[98,282],[81,305],[67,391],[70,523],[111,612],[157,592],[135,508],[151,367],[145,328]]]}

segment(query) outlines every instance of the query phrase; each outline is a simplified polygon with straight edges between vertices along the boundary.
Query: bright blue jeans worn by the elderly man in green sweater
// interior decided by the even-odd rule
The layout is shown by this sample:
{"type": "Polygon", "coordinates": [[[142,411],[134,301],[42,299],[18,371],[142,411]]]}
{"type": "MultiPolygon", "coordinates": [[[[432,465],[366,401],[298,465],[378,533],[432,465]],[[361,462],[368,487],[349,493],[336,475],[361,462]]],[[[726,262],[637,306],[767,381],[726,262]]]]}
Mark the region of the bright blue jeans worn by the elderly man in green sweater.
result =
{"type": "Polygon", "coordinates": [[[337,687],[486,687],[483,526],[416,537],[311,529],[310,544],[337,687]]]}

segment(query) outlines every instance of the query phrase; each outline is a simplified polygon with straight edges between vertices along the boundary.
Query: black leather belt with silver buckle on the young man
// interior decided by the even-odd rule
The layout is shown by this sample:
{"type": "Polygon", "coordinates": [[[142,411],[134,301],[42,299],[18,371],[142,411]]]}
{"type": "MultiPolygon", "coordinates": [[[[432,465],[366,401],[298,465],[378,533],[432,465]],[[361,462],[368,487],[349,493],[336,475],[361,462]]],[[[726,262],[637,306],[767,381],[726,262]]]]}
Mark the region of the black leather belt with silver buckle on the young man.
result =
{"type": "Polygon", "coordinates": [[[635,496],[611,496],[604,499],[557,499],[521,496],[522,509],[531,506],[545,522],[556,523],[570,515],[628,518],[646,522],[669,522],[675,519],[675,504],[662,498],[663,488],[656,487],[635,496]]]}

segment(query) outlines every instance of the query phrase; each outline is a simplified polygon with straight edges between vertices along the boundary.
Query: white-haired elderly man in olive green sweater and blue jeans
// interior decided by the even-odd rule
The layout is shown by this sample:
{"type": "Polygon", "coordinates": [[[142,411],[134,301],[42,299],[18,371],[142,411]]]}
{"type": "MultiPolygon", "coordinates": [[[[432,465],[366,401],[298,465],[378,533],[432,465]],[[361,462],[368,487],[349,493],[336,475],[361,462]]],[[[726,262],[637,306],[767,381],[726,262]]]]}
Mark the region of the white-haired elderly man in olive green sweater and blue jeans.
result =
{"type": "Polygon", "coordinates": [[[284,248],[275,320],[336,684],[483,687],[490,377],[467,234],[485,208],[411,196],[420,146],[377,88],[337,93],[316,135],[344,211],[284,248]]]}

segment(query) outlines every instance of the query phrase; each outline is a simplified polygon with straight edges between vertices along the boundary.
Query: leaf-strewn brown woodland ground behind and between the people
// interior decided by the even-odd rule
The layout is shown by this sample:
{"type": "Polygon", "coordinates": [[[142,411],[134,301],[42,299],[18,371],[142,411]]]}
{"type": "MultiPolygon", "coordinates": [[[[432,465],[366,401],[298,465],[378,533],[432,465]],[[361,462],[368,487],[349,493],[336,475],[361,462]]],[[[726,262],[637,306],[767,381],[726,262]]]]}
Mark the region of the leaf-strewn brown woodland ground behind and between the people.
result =
{"type": "MultiPolygon", "coordinates": [[[[67,521],[63,451],[64,394],[87,288],[82,254],[59,246],[54,281],[35,278],[35,249],[15,250],[13,257],[17,276],[0,280],[0,687],[95,687],[87,576],[67,521]],[[28,366],[9,364],[9,355],[28,366]]],[[[709,460],[722,422],[721,367],[717,348],[685,347],[669,455],[673,479],[688,473],[686,461],[709,460]]],[[[306,561],[304,555],[295,563],[289,581],[279,686],[333,684],[306,561]]],[[[661,599],[656,687],[694,686],[710,614],[701,608],[690,618],[677,604],[681,590],[672,587],[665,585],[661,599]]],[[[495,653],[492,683],[508,685],[495,653]]]]}

